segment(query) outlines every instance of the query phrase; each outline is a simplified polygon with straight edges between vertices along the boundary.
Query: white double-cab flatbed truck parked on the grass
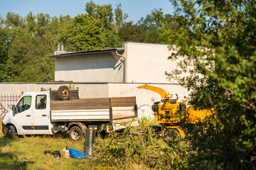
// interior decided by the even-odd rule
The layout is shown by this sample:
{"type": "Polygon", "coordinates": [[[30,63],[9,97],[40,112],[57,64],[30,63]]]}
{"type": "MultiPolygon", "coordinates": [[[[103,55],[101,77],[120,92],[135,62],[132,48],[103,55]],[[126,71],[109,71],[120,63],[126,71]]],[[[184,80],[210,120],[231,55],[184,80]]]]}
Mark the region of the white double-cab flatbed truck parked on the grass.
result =
{"type": "Polygon", "coordinates": [[[79,99],[78,95],[70,96],[68,87],[60,87],[62,89],[58,91],[23,94],[12,111],[4,115],[4,135],[13,137],[67,132],[70,140],[80,140],[86,128],[99,129],[104,125],[105,132],[110,132],[125,128],[122,123],[138,126],[135,96],[79,99]],[[58,93],[58,98],[54,93],[58,93]]]}

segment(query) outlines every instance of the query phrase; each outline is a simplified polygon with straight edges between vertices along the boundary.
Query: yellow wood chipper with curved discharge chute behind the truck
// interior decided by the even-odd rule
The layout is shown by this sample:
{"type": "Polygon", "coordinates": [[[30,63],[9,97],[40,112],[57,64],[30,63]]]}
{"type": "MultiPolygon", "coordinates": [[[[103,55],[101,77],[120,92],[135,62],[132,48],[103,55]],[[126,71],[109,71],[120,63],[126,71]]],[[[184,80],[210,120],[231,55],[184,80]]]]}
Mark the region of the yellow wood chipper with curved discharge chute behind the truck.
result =
{"type": "Polygon", "coordinates": [[[161,96],[161,101],[156,101],[152,106],[155,121],[159,122],[160,126],[151,126],[151,128],[162,137],[169,137],[170,140],[173,137],[186,136],[186,130],[183,130],[180,126],[181,120],[185,120],[185,123],[193,124],[213,114],[213,110],[210,109],[194,110],[193,106],[186,108],[186,102],[177,102],[177,94],[176,98],[173,98],[172,94],[168,94],[159,87],[145,84],[137,88],[148,89],[161,96]]]}

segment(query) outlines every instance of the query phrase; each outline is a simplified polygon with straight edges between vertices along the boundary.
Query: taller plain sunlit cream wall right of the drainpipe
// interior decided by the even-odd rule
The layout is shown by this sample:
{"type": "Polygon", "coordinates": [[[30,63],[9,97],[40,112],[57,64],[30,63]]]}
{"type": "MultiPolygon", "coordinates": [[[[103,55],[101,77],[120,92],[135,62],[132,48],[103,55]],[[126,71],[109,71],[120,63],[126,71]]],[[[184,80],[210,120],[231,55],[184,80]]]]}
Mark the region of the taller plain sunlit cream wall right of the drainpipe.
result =
{"type": "Polygon", "coordinates": [[[172,52],[169,45],[124,42],[126,57],[126,82],[136,83],[177,83],[166,79],[166,72],[177,68],[178,60],[168,60],[172,52]]]}

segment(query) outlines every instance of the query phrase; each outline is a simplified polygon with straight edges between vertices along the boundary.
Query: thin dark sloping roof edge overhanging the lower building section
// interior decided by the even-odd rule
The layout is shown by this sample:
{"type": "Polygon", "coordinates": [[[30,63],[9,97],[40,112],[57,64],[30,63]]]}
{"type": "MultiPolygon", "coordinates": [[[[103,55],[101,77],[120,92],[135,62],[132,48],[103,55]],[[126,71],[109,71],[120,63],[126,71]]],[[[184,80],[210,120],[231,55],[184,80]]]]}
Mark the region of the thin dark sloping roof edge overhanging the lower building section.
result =
{"type": "Polygon", "coordinates": [[[110,52],[124,52],[124,48],[109,48],[109,49],[102,49],[102,50],[88,50],[82,52],[67,52],[59,55],[50,55],[49,57],[71,57],[71,56],[78,56],[78,55],[95,55],[100,53],[110,53],[110,52]]]}

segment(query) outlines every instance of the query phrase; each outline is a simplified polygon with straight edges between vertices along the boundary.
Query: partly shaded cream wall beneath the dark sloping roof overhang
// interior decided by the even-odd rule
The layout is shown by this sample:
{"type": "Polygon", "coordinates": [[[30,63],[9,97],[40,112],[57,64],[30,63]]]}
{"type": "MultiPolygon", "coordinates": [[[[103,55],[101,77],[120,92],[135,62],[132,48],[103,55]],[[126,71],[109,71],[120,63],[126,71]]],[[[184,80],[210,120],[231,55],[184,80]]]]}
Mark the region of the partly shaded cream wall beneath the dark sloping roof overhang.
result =
{"type": "Polygon", "coordinates": [[[55,81],[123,82],[123,65],[114,53],[55,57],[55,81]]]}

